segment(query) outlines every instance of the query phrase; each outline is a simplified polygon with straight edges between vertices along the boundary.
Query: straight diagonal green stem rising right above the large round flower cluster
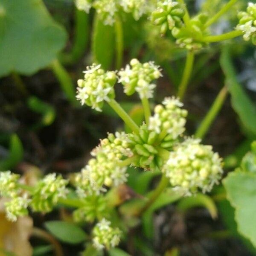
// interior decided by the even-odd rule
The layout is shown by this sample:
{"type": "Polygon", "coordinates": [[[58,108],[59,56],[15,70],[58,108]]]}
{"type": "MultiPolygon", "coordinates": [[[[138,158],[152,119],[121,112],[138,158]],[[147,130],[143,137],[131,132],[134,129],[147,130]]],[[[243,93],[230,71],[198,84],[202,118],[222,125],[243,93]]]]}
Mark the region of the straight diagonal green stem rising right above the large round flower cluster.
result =
{"type": "Polygon", "coordinates": [[[221,107],[224,104],[224,101],[227,96],[227,87],[224,86],[221,91],[218,93],[215,101],[213,102],[210,110],[208,111],[207,115],[204,117],[204,120],[201,122],[200,126],[198,127],[197,131],[195,132],[195,137],[203,139],[209,127],[212,125],[215,117],[221,110],[221,107]]]}

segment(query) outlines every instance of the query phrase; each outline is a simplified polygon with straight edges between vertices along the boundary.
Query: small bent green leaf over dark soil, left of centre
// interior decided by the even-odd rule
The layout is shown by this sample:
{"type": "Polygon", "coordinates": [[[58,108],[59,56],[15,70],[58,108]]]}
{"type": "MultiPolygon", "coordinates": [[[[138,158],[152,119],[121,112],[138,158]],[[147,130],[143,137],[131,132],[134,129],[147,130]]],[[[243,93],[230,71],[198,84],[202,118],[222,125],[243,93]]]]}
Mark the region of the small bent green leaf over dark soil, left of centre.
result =
{"type": "Polygon", "coordinates": [[[35,96],[29,97],[28,106],[32,111],[40,113],[42,115],[40,124],[43,126],[51,125],[55,120],[55,109],[48,103],[43,102],[41,99],[38,99],[35,96]]]}

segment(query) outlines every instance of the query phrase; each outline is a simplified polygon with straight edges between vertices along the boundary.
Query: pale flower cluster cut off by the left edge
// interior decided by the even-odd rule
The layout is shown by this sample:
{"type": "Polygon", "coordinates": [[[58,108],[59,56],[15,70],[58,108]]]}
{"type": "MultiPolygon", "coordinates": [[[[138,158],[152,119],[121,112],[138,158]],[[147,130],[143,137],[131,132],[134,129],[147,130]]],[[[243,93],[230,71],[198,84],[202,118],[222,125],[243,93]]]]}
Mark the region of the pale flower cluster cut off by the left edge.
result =
{"type": "Polygon", "coordinates": [[[18,194],[17,181],[20,175],[10,171],[0,172],[0,195],[14,198],[18,194]]]}

